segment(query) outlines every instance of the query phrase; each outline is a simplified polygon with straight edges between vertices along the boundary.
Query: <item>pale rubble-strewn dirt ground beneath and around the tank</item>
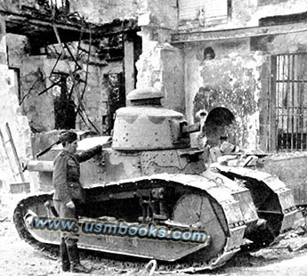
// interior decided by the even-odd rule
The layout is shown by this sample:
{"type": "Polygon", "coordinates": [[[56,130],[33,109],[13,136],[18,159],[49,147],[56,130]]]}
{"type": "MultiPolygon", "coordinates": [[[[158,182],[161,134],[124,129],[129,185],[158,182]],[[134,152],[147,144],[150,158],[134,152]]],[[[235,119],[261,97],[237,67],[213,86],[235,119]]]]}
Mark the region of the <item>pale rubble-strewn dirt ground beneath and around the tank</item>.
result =
{"type": "MultiPolygon", "coordinates": [[[[2,195],[3,196],[3,195],[2,195]]],[[[61,272],[58,256],[39,251],[21,240],[12,223],[12,211],[20,196],[2,197],[0,203],[0,276],[47,276],[47,275],[83,275],[72,272],[61,272]]],[[[193,275],[220,276],[300,276],[307,270],[307,233],[293,231],[271,248],[263,248],[256,252],[241,252],[222,268],[213,272],[201,272],[193,275]]],[[[97,259],[82,259],[87,267],[92,267],[91,275],[149,275],[148,272],[129,269],[117,271],[97,259]]],[[[86,274],[88,275],[88,274],[86,274]]],[[[153,275],[159,275],[155,272],[153,275]]],[[[164,275],[189,275],[172,272],[164,275]]]]}

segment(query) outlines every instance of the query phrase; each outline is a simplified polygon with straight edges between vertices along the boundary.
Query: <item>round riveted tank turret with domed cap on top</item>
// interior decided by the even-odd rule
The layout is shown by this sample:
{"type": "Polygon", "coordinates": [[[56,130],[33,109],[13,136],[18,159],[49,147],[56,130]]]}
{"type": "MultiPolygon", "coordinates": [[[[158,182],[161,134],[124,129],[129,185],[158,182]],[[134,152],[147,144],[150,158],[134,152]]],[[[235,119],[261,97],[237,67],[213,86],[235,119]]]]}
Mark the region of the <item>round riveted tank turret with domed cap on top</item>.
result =
{"type": "Polygon", "coordinates": [[[190,147],[182,113],[161,105],[163,93],[154,88],[135,89],[130,107],[117,110],[112,148],[115,150],[167,150],[190,147]]]}

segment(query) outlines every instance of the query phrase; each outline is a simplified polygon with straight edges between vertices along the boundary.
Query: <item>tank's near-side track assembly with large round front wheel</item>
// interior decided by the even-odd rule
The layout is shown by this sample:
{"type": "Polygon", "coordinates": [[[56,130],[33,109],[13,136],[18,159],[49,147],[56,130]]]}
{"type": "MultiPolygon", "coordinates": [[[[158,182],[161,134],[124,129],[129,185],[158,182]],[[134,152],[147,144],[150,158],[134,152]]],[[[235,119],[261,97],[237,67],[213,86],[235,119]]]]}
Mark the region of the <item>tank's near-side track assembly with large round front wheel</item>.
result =
{"type": "MultiPolygon", "coordinates": [[[[139,222],[139,216],[142,215],[141,207],[138,211],[134,209],[133,214],[127,210],[127,207],[139,205],[140,199],[135,199],[135,192],[146,195],[149,191],[159,188],[172,191],[174,199],[169,200],[172,202],[169,203],[170,216],[167,220],[150,223],[155,223],[155,227],[163,227],[170,232],[178,228],[183,232],[205,231],[206,239],[193,243],[174,239],[118,237],[79,231],[79,247],[182,264],[198,261],[199,270],[220,266],[238,252],[244,243],[246,231],[246,223],[238,201],[234,199],[233,191],[200,175],[151,175],[131,179],[129,182],[122,181],[87,188],[85,189],[88,199],[86,209],[93,210],[93,206],[96,206],[96,211],[85,212],[83,214],[85,216],[82,216],[78,222],[79,226],[81,228],[85,222],[107,222],[114,225],[125,222],[128,227],[149,228],[150,223],[139,222]],[[142,191],[139,191],[140,187],[142,191]],[[120,203],[123,200],[126,202],[125,205],[120,203]],[[109,206],[116,203],[117,210],[110,210],[109,206]],[[97,207],[100,211],[97,211],[97,207]],[[110,221],[110,218],[114,217],[120,219],[110,221]],[[197,223],[198,227],[195,226],[197,223]],[[191,226],[193,224],[194,226],[191,226]]],[[[45,202],[51,200],[52,196],[52,193],[43,194],[20,201],[14,212],[14,222],[21,238],[31,239],[40,244],[60,244],[60,231],[39,230],[28,223],[29,220],[33,223],[36,217],[57,218],[53,210],[45,206],[45,202]]]]}

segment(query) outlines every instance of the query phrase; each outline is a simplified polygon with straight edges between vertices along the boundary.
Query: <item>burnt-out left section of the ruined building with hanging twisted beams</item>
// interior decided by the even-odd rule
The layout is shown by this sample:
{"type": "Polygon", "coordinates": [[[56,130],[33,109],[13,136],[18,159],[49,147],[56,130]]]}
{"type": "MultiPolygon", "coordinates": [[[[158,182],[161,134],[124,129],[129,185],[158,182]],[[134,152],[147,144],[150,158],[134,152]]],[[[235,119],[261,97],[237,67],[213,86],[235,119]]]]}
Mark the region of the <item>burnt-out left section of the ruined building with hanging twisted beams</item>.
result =
{"type": "Polygon", "coordinates": [[[85,20],[83,8],[69,1],[1,2],[3,181],[20,181],[4,125],[21,164],[59,130],[110,134],[125,91],[135,87],[141,54],[135,16],[85,20]]]}

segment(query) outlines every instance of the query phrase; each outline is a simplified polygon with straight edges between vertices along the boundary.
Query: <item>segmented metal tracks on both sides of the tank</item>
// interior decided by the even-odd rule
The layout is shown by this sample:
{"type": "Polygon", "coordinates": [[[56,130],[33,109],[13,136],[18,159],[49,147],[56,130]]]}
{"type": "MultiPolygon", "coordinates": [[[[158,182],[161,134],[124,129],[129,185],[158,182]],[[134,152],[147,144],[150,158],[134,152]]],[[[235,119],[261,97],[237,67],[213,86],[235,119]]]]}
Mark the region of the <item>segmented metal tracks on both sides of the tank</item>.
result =
{"type": "MultiPolygon", "coordinates": [[[[283,183],[280,183],[274,177],[271,177],[271,175],[268,175],[268,174],[259,175],[251,170],[243,169],[241,167],[240,168],[220,167],[219,171],[225,175],[228,175],[228,174],[236,175],[239,178],[247,177],[248,179],[257,180],[257,182],[267,183],[268,186],[271,186],[273,191],[276,191],[278,194],[287,195],[285,199],[290,199],[290,200],[283,201],[287,203],[287,206],[285,205],[282,208],[283,210],[281,211],[281,214],[284,214],[284,219],[282,220],[282,223],[280,225],[279,232],[287,230],[290,224],[292,224],[295,221],[295,217],[298,214],[297,214],[297,210],[293,209],[294,205],[293,205],[293,200],[291,200],[292,199],[291,194],[289,193],[288,189],[284,187],[283,183]],[[285,209],[287,210],[289,208],[290,208],[290,211],[287,212],[287,214],[285,214],[284,210],[285,209]]],[[[151,177],[153,179],[163,180],[166,182],[174,181],[175,183],[188,183],[185,180],[182,181],[182,175],[168,175],[168,177],[166,177],[166,175],[151,175],[151,177]]],[[[188,186],[198,187],[199,177],[200,177],[199,175],[195,175],[193,177],[189,176],[190,181],[189,181],[188,186]]],[[[218,182],[214,181],[212,175],[208,175],[208,176],[204,175],[204,177],[207,180],[206,182],[207,184],[202,183],[202,187],[203,187],[202,189],[208,192],[211,192],[210,191],[211,188],[214,188],[219,185],[218,182]],[[206,187],[204,185],[206,185],[206,187]]],[[[144,178],[146,177],[140,177],[140,178],[134,179],[134,181],[136,180],[137,182],[138,180],[144,179],[144,178]]],[[[118,183],[113,183],[113,184],[117,185],[118,183]]],[[[92,188],[85,188],[85,189],[92,189],[92,188]]],[[[37,194],[34,196],[30,196],[26,199],[21,199],[17,207],[14,210],[13,222],[15,224],[15,227],[21,239],[26,240],[30,245],[32,245],[33,247],[35,247],[36,249],[40,251],[47,250],[51,254],[54,254],[54,252],[57,251],[58,247],[53,244],[43,243],[41,241],[36,240],[31,235],[31,233],[28,231],[27,225],[24,221],[24,216],[27,214],[28,209],[30,207],[42,206],[44,205],[45,201],[47,201],[48,199],[52,199],[52,196],[53,196],[53,193],[44,193],[44,194],[37,194]]],[[[281,198],[283,199],[283,197],[281,198]]],[[[229,214],[227,216],[230,219],[231,214],[233,214],[235,211],[235,209],[233,209],[233,207],[235,207],[233,205],[233,202],[227,199],[226,200],[220,199],[219,203],[224,208],[224,211],[226,210],[226,213],[229,214]]],[[[238,223],[235,223],[235,222],[237,221],[234,220],[231,223],[231,226],[229,224],[230,231],[232,232],[232,239],[228,239],[226,242],[226,245],[220,250],[220,252],[216,254],[215,256],[213,256],[208,261],[199,261],[201,260],[201,257],[198,257],[198,254],[197,254],[198,252],[196,252],[196,255],[192,255],[191,258],[183,257],[182,259],[172,262],[172,263],[171,262],[168,263],[166,261],[157,261],[156,271],[160,273],[198,272],[198,271],[204,271],[207,269],[212,270],[216,267],[222,266],[222,264],[226,263],[226,261],[228,261],[232,256],[234,256],[240,250],[240,246],[242,246],[244,243],[240,233],[244,231],[243,228],[246,226],[244,225],[244,222],[241,222],[243,224],[239,224],[240,221],[238,221],[238,223]],[[235,238],[233,239],[233,237],[235,238]]],[[[143,259],[140,257],[139,258],[135,257],[133,258],[133,262],[130,262],[130,261],[123,261],[122,259],[125,257],[121,257],[121,260],[117,261],[117,257],[116,258],[111,257],[111,260],[109,260],[109,257],[106,258],[104,256],[101,256],[102,255],[101,253],[97,254],[97,251],[94,251],[94,250],[87,249],[87,250],[84,250],[84,252],[85,252],[85,258],[94,258],[94,259],[98,258],[99,262],[101,263],[101,268],[103,266],[108,267],[108,269],[114,268],[115,270],[117,270],[117,272],[120,272],[120,271],[125,272],[127,269],[142,270],[144,269],[144,267],[146,266],[146,264],[148,264],[150,260],[149,258],[143,259]]],[[[128,259],[130,259],[130,257],[126,257],[126,260],[128,259]]]]}

